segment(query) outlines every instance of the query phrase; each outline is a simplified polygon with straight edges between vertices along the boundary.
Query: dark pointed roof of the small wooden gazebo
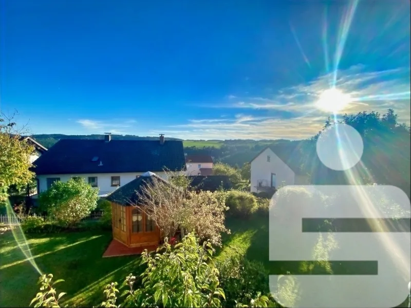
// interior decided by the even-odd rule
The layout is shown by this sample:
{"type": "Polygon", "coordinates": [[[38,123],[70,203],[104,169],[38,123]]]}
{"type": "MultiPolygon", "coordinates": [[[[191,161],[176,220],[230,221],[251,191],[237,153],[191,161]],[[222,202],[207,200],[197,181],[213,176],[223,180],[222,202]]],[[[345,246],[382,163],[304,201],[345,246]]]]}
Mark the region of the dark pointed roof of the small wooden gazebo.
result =
{"type": "MultiPolygon", "coordinates": [[[[151,173],[151,172],[150,172],[151,173]]],[[[154,183],[154,179],[166,182],[159,176],[152,174],[150,176],[140,176],[137,179],[121,186],[120,188],[113,191],[106,200],[115,202],[120,205],[143,205],[139,194],[143,194],[143,187],[154,183]]]]}

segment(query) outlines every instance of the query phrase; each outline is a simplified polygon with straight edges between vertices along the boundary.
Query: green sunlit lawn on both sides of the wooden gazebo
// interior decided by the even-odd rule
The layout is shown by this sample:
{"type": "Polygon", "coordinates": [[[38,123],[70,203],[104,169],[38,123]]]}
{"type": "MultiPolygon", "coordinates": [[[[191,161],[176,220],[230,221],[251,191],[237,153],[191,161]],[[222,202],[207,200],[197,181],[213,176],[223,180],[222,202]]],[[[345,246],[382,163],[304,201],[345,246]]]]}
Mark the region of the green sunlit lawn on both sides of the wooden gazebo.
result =
{"type": "MultiPolygon", "coordinates": [[[[269,261],[268,218],[253,217],[250,220],[228,219],[230,235],[223,236],[223,246],[217,249],[216,258],[244,255],[263,262],[270,274],[376,274],[375,265],[366,262],[342,264],[341,262],[273,262],[269,261]]],[[[129,273],[139,274],[138,256],[102,258],[111,240],[110,232],[89,231],[36,235],[26,241],[11,232],[0,234],[0,306],[27,306],[38,292],[36,282],[39,273],[52,273],[55,279],[65,279],[58,285],[59,292],[67,292],[62,304],[68,306],[92,306],[103,300],[104,285],[122,283],[129,273]],[[17,243],[18,242],[18,243],[17,243]],[[21,247],[19,247],[19,245],[21,247]],[[22,251],[23,249],[23,251],[22,251]],[[28,255],[30,257],[30,255],[28,255]]],[[[320,253],[327,253],[324,243],[320,253]]],[[[406,302],[401,306],[406,307],[406,302]]]]}

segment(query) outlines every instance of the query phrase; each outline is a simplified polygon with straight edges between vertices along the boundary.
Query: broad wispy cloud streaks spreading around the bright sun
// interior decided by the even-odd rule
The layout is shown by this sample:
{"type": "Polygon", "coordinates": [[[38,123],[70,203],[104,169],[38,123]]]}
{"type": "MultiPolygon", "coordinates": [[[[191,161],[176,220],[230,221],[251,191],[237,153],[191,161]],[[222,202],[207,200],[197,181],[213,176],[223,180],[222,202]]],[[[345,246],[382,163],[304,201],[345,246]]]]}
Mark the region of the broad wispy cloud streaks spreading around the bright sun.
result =
{"type": "MultiPolygon", "coordinates": [[[[232,97],[215,108],[215,119],[192,119],[188,123],[164,127],[161,131],[171,137],[188,139],[303,139],[321,130],[328,112],[316,107],[321,93],[329,89],[335,74],[328,73],[307,84],[283,88],[269,97],[232,97]],[[221,118],[218,109],[232,110],[231,117],[221,118]],[[241,111],[240,111],[241,110],[241,111]],[[239,112],[240,111],[240,112],[239,112]],[[256,117],[255,113],[264,113],[256,117]],[[290,116],[285,119],[281,114],[290,116]]],[[[377,72],[366,71],[362,65],[339,71],[335,86],[348,93],[351,103],[339,112],[352,114],[361,111],[385,113],[393,108],[399,121],[410,123],[409,68],[377,72]]],[[[234,96],[234,95],[232,95],[234,96]]]]}

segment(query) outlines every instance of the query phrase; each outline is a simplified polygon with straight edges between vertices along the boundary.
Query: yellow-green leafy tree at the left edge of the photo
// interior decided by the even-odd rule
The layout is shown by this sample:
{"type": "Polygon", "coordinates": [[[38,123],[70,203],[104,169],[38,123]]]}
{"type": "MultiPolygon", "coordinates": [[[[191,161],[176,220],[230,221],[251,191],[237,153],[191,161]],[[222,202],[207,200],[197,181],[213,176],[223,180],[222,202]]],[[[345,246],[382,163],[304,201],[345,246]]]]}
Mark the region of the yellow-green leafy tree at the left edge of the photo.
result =
{"type": "Polygon", "coordinates": [[[33,178],[29,168],[34,147],[27,140],[21,140],[24,128],[17,130],[13,117],[0,114],[0,202],[7,199],[11,185],[24,187],[33,178]]]}

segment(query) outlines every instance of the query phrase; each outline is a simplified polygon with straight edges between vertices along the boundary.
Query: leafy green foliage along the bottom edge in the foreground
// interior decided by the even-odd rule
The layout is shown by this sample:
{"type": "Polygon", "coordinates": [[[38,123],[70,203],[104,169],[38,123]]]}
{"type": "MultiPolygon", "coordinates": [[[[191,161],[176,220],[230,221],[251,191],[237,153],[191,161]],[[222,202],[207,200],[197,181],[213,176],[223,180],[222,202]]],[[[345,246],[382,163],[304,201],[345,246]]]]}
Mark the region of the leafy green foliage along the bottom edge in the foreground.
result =
{"type": "MultiPolygon", "coordinates": [[[[234,262],[234,266],[222,265],[223,272],[220,274],[213,261],[213,252],[209,241],[200,245],[193,234],[185,236],[182,242],[174,247],[165,243],[155,254],[145,251],[142,254],[145,271],[139,277],[132,274],[126,277],[123,284],[126,290],[121,296],[117,282],[107,284],[103,291],[106,299],[100,306],[221,307],[227,306],[227,303],[238,307],[273,305],[268,296],[256,291],[257,286],[263,285],[259,282],[263,271],[257,263],[242,260],[234,262]],[[227,272],[237,269],[245,270],[245,273],[227,272]],[[228,275],[223,283],[227,285],[228,293],[232,296],[240,295],[239,299],[226,299],[219,281],[221,275],[228,275]],[[258,281],[255,287],[254,277],[249,275],[255,275],[258,281]],[[237,282],[238,287],[234,285],[237,282]],[[240,290],[242,287],[244,295],[240,290]],[[242,300],[245,300],[246,304],[241,303],[242,300]]],[[[31,304],[35,303],[36,307],[59,307],[58,301],[65,293],[56,298],[57,292],[51,279],[52,275],[41,277],[41,292],[31,304]]],[[[265,279],[268,279],[268,276],[265,279]]],[[[263,287],[261,291],[266,292],[267,287],[263,287]]]]}

